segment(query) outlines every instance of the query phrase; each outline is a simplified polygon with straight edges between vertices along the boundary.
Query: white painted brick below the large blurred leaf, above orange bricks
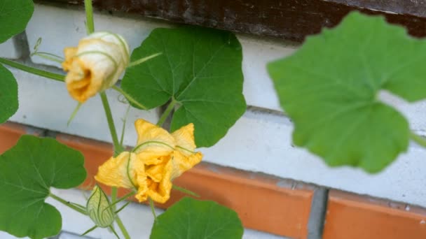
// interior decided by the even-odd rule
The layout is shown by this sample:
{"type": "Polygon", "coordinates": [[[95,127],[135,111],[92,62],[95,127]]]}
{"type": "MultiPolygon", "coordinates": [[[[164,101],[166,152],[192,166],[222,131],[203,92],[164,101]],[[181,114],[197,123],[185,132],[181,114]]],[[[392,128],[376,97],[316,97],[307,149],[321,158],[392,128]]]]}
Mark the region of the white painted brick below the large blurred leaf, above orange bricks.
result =
{"type": "Polygon", "coordinates": [[[202,149],[203,160],[426,207],[426,149],[411,145],[385,171],[370,175],[356,168],[329,168],[291,146],[292,130],[286,117],[247,112],[217,145],[202,149]]]}

